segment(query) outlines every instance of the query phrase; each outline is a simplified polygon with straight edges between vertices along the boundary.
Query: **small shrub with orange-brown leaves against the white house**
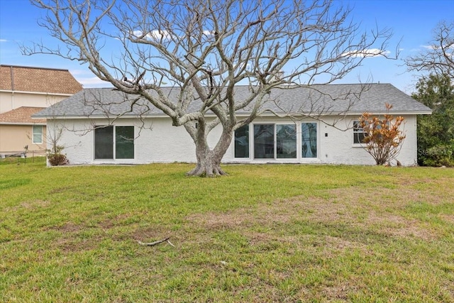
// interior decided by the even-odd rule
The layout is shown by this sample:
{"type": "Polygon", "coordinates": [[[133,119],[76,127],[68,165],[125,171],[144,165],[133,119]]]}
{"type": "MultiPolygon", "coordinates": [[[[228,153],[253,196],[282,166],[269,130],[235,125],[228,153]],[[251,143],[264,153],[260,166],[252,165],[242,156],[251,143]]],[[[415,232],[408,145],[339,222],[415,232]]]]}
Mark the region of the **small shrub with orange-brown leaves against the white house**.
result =
{"type": "Polygon", "coordinates": [[[365,133],[362,140],[364,148],[372,155],[377,165],[389,164],[394,160],[399,155],[405,139],[404,133],[399,129],[404,122],[404,117],[398,116],[394,120],[394,117],[389,114],[392,105],[386,103],[385,106],[387,111],[382,119],[380,116],[372,116],[366,112],[362,114],[358,123],[365,133]]]}

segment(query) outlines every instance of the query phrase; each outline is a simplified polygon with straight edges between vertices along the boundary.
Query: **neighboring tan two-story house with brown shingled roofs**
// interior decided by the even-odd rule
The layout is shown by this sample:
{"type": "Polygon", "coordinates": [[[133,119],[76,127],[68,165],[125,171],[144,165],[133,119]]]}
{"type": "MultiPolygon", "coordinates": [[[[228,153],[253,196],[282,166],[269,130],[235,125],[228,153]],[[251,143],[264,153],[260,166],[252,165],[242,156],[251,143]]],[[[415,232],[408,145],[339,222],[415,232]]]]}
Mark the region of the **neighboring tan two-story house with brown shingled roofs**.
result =
{"type": "Polygon", "coordinates": [[[0,65],[0,155],[45,150],[45,119],[31,115],[81,89],[68,70],[0,65]]]}

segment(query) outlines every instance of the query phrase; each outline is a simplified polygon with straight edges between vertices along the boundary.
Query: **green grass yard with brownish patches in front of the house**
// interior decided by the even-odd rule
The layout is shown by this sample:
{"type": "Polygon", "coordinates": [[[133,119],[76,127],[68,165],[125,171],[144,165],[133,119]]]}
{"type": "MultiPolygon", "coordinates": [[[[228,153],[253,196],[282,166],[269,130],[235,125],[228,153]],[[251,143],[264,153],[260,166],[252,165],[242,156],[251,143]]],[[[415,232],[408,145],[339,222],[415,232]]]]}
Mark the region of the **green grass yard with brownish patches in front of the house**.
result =
{"type": "Polygon", "coordinates": [[[454,169],[191,167],[0,162],[0,302],[454,302],[454,169]]]}

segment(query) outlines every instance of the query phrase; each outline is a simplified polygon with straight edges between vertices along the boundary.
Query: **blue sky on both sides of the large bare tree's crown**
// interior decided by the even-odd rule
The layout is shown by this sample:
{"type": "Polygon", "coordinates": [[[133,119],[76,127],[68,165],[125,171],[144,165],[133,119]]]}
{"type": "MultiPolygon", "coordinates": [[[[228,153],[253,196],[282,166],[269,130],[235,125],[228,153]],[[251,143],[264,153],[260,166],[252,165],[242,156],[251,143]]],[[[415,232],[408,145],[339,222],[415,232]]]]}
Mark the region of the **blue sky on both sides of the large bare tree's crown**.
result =
{"type": "MultiPolygon", "coordinates": [[[[402,59],[424,50],[432,39],[433,28],[440,21],[454,20],[454,0],[345,0],[353,6],[352,17],[364,30],[391,28],[389,55],[398,60],[382,57],[366,58],[358,70],[341,82],[356,83],[372,79],[373,82],[391,83],[407,94],[414,92],[414,84],[421,74],[406,72],[402,59]]],[[[52,55],[21,55],[19,44],[50,40],[48,32],[37,25],[43,12],[28,0],[0,0],[0,64],[53,67],[70,70],[84,87],[106,86],[89,72],[86,65],[52,55]]]]}

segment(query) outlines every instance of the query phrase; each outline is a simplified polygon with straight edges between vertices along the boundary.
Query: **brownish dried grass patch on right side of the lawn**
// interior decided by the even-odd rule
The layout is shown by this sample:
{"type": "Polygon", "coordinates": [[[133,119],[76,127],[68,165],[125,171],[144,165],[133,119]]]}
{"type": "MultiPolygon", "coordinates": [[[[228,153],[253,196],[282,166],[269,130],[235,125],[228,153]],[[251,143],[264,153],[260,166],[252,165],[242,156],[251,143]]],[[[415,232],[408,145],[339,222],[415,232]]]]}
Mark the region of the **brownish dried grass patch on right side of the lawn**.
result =
{"type": "MultiPolygon", "coordinates": [[[[192,214],[187,217],[187,221],[199,228],[213,231],[243,230],[252,226],[271,229],[275,224],[289,224],[305,219],[365,229],[372,226],[375,232],[384,235],[416,237],[429,241],[437,238],[435,231],[421,226],[421,222],[416,219],[407,219],[389,210],[404,209],[409,203],[427,201],[425,197],[406,188],[365,190],[362,187],[348,187],[323,191],[322,197],[294,197],[224,213],[192,214]]],[[[436,201],[436,198],[430,199],[436,201]]],[[[254,235],[253,241],[258,238],[270,240],[264,235],[254,235]]]]}

